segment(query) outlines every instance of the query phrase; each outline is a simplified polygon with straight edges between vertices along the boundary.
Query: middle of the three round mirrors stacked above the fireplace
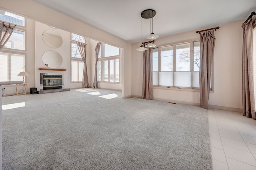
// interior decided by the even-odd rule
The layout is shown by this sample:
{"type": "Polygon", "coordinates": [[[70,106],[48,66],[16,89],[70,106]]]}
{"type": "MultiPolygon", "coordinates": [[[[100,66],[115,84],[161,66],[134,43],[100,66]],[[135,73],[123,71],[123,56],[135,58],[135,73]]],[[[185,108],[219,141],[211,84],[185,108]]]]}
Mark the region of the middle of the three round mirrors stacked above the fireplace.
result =
{"type": "Polygon", "coordinates": [[[42,39],[46,45],[52,48],[58,48],[62,45],[62,38],[60,34],[53,30],[46,30],[42,34],[42,39]]]}

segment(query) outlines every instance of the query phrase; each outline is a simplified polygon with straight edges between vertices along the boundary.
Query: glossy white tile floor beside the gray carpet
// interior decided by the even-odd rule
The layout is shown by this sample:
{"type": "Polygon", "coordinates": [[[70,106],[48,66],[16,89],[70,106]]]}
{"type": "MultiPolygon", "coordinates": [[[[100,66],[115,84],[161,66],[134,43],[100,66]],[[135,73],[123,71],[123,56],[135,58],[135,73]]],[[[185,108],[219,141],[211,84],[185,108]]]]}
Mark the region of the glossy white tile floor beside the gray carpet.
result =
{"type": "Polygon", "coordinates": [[[256,170],[256,120],[208,109],[213,170],[256,170]]]}

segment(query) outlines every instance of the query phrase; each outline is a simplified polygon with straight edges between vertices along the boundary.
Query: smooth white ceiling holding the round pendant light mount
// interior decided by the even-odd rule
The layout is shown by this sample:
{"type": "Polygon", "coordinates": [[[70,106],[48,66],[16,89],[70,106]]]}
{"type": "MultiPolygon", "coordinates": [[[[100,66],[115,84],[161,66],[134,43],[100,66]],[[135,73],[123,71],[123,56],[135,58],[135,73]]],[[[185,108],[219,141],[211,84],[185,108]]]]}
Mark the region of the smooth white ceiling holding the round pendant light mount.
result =
{"type": "MultiPolygon", "coordinates": [[[[160,37],[243,20],[256,0],[33,0],[127,42],[141,42],[141,16],[156,11],[153,31],[160,37]]],[[[150,19],[143,19],[143,41],[150,19]]],[[[242,23],[241,23],[242,24],[242,23]]]]}

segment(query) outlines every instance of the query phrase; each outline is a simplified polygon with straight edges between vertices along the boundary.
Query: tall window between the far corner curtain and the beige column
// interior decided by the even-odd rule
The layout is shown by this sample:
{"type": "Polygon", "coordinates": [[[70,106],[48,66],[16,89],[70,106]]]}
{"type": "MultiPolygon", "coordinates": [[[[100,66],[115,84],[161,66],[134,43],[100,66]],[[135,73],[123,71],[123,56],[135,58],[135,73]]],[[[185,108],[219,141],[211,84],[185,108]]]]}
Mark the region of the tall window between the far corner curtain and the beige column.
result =
{"type": "Polygon", "coordinates": [[[102,44],[101,49],[97,62],[98,82],[121,83],[122,49],[108,44],[102,44]]]}

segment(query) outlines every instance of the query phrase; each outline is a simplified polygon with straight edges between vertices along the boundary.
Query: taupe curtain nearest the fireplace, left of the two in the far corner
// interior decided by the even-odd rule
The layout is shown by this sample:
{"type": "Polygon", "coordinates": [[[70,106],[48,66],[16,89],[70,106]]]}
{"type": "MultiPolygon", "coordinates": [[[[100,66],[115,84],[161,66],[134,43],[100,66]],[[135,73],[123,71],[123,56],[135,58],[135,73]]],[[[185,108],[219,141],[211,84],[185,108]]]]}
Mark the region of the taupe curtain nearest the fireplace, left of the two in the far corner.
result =
{"type": "Polygon", "coordinates": [[[88,88],[88,87],[90,87],[90,85],[89,85],[89,82],[88,82],[87,66],[86,66],[86,44],[85,43],[80,43],[80,42],[76,42],[76,43],[77,43],[79,52],[82,56],[82,61],[84,61],[82,86],[83,86],[83,88],[88,88]]]}

